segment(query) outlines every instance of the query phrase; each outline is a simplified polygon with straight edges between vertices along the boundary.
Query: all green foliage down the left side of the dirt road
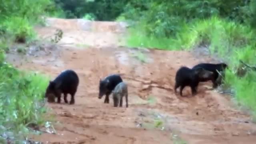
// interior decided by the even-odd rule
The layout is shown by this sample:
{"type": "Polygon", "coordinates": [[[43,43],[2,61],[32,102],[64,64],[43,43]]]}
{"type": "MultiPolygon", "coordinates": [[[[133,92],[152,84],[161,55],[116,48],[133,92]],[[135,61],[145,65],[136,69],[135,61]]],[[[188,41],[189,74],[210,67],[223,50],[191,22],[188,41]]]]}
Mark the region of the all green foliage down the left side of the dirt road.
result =
{"type": "Polygon", "coordinates": [[[42,22],[51,0],[1,0],[0,4],[0,143],[8,137],[24,140],[29,124],[43,124],[44,92],[49,78],[17,70],[5,62],[13,40],[36,38],[34,24],[42,22]]]}

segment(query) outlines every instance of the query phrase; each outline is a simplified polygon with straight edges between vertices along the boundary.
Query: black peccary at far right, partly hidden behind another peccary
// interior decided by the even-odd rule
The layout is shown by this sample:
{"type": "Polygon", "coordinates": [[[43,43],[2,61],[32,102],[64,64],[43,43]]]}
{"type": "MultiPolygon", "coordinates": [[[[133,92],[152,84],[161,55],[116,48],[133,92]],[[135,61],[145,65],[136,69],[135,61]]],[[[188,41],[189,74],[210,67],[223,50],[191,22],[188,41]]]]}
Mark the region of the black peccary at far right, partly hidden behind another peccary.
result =
{"type": "Polygon", "coordinates": [[[219,63],[219,64],[200,63],[200,64],[195,65],[192,69],[195,69],[198,67],[201,67],[201,68],[204,68],[205,70],[211,71],[214,74],[213,78],[210,78],[210,77],[209,78],[199,78],[199,82],[206,82],[208,80],[211,80],[212,84],[213,84],[212,88],[216,88],[219,85],[218,82],[216,82],[216,80],[219,76],[219,74],[216,70],[221,72],[221,71],[225,70],[226,68],[228,68],[228,65],[225,63],[219,63]]]}

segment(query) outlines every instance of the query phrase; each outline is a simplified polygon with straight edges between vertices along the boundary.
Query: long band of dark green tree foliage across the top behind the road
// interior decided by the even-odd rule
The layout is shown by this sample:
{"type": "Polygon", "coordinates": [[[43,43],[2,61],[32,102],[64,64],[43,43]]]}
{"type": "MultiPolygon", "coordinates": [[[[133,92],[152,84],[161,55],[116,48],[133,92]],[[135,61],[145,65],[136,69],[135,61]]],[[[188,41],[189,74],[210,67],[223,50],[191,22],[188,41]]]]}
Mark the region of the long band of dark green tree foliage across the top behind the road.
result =
{"type": "Polygon", "coordinates": [[[170,37],[183,23],[218,15],[255,25],[256,2],[252,0],[55,0],[68,18],[85,14],[96,20],[118,16],[140,21],[148,34],[170,37]]]}

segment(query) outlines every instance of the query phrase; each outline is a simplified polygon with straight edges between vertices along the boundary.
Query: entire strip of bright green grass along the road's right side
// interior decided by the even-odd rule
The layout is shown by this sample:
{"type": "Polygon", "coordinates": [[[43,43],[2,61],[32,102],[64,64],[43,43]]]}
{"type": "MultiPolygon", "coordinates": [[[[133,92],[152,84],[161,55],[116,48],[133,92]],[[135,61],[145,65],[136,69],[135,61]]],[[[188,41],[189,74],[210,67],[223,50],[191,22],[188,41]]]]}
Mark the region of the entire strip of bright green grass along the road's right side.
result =
{"type": "Polygon", "coordinates": [[[182,28],[172,38],[147,36],[139,26],[130,28],[126,39],[128,46],[163,50],[190,50],[202,44],[208,46],[211,54],[217,54],[229,65],[224,84],[234,89],[234,99],[256,114],[256,72],[250,71],[242,78],[236,75],[239,60],[256,66],[256,30],[216,16],[180,24],[182,28]]]}

